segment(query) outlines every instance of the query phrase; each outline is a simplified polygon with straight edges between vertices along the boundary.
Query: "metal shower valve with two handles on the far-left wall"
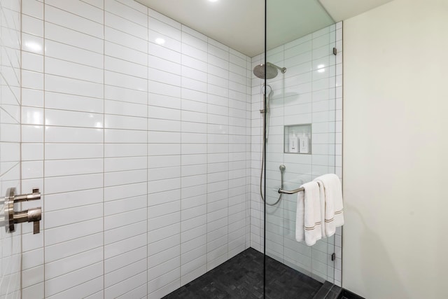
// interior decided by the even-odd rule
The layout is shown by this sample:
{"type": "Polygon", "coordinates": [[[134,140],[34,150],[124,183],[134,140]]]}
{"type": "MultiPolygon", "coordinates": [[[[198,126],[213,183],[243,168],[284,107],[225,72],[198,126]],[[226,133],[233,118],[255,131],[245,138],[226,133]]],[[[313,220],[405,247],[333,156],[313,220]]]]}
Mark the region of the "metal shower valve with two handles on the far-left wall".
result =
{"type": "MultiPolygon", "coordinates": [[[[14,204],[17,202],[27,202],[29,200],[40,200],[41,193],[38,188],[34,188],[32,193],[16,195],[15,188],[8,188],[6,196],[3,198],[5,214],[0,215],[0,226],[4,225],[6,232],[15,231],[15,223],[32,222],[33,233],[40,232],[39,221],[42,218],[41,207],[26,209],[23,211],[14,211],[14,204]]],[[[1,203],[1,201],[0,201],[1,203]]]]}

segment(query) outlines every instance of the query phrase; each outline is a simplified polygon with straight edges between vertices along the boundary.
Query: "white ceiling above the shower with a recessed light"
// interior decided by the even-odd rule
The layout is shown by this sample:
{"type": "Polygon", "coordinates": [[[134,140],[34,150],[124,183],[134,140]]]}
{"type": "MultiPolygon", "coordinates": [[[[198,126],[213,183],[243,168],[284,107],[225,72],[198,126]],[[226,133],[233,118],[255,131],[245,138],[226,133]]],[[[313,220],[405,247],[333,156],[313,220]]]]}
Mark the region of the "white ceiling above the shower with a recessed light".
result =
{"type": "MultiPolygon", "coordinates": [[[[249,57],[265,50],[265,1],[137,1],[249,57]]],[[[267,48],[275,48],[389,1],[392,0],[268,0],[267,48]]]]}

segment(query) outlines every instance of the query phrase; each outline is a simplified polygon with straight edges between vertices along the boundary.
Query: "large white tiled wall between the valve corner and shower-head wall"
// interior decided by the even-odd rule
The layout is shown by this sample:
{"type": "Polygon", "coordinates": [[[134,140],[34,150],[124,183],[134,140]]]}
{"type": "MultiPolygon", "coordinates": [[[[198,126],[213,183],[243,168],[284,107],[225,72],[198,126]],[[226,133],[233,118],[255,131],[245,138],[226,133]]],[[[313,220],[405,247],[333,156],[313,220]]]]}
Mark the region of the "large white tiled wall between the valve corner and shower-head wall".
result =
{"type": "Polygon", "coordinates": [[[161,298],[248,248],[251,58],[132,0],[22,18],[22,298],[161,298]]]}

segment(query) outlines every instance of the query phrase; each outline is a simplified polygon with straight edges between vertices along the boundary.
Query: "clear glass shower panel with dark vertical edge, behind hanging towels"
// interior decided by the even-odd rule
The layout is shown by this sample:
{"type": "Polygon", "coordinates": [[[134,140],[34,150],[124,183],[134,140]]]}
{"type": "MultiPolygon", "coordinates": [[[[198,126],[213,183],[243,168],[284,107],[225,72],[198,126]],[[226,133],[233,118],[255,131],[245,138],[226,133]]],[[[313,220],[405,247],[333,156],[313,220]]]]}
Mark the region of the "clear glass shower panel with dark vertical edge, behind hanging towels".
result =
{"type": "Polygon", "coordinates": [[[335,236],[297,242],[297,193],[278,190],[336,172],[336,25],[318,1],[268,0],[266,32],[265,292],[313,298],[335,282],[335,236]]]}

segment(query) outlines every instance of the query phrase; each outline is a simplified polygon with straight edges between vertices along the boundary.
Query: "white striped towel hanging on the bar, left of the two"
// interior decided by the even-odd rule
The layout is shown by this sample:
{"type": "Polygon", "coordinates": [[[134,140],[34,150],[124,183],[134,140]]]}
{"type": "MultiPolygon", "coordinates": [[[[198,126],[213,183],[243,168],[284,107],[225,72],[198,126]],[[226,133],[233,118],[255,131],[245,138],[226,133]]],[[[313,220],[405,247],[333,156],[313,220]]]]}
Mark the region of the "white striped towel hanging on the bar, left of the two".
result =
{"type": "Polygon", "coordinates": [[[314,181],[304,183],[302,187],[304,191],[297,194],[295,239],[312,246],[322,239],[319,187],[314,181]]]}

